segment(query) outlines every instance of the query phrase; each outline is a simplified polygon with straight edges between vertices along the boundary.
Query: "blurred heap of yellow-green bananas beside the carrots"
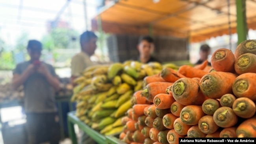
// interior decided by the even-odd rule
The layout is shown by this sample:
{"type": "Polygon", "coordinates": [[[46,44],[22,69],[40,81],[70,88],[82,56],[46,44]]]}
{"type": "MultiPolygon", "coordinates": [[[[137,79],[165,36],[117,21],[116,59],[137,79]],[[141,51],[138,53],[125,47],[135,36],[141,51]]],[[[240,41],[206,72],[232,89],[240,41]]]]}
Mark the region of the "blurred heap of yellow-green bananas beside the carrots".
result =
{"type": "Polygon", "coordinates": [[[145,76],[159,74],[162,68],[157,62],[138,61],[86,68],[75,80],[78,85],[71,98],[77,102],[76,116],[104,135],[120,133],[121,118],[132,107],[133,93],[142,89],[145,76]]]}

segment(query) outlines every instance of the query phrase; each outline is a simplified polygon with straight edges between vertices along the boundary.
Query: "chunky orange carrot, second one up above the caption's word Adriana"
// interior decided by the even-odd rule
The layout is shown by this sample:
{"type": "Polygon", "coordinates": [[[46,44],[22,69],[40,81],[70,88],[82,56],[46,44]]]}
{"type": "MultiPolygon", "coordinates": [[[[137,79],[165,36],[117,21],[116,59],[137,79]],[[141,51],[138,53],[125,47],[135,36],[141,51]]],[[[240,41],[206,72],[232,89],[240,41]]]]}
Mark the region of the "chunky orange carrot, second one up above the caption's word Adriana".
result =
{"type": "Polygon", "coordinates": [[[203,116],[205,116],[205,113],[202,110],[202,106],[199,105],[188,105],[180,112],[182,122],[192,126],[197,125],[203,116]]]}

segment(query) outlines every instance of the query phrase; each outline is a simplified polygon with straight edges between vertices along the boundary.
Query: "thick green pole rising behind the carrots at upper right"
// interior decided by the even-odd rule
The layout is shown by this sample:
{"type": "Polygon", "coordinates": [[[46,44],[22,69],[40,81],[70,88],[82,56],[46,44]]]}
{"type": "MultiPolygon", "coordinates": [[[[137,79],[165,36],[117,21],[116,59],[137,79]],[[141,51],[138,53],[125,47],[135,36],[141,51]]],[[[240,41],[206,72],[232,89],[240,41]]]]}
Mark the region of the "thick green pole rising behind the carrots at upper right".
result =
{"type": "Polygon", "coordinates": [[[236,0],[236,22],[237,22],[237,45],[246,40],[247,22],[246,22],[246,6],[245,0],[236,0]]]}

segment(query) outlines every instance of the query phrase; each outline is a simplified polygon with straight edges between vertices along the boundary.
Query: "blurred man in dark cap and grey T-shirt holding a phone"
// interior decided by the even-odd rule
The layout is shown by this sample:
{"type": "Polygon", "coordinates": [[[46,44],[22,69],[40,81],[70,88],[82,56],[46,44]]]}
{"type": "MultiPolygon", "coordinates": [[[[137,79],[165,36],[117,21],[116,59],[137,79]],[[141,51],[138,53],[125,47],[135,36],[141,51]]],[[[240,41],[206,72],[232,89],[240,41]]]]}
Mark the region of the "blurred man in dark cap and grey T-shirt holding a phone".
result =
{"type": "Polygon", "coordinates": [[[28,144],[59,144],[59,118],[54,98],[59,80],[54,68],[40,61],[41,42],[30,40],[27,51],[30,60],[19,63],[13,70],[12,86],[17,89],[24,85],[28,144]]]}

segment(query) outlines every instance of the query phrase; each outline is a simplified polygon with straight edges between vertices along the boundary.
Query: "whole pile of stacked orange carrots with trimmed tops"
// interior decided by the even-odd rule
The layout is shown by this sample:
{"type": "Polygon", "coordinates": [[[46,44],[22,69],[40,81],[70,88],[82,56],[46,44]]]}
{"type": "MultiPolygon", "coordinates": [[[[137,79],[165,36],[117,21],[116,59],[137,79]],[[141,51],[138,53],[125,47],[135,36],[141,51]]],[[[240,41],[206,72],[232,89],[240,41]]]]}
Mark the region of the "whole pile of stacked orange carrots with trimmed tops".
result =
{"type": "Polygon", "coordinates": [[[123,118],[128,144],[178,144],[182,137],[256,137],[256,41],[213,52],[197,66],[147,76],[123,118]],[[253,67],[253,68],[252,68],[253,67]],[[150,79],[150,81],[148,81],[150,79]]]}

